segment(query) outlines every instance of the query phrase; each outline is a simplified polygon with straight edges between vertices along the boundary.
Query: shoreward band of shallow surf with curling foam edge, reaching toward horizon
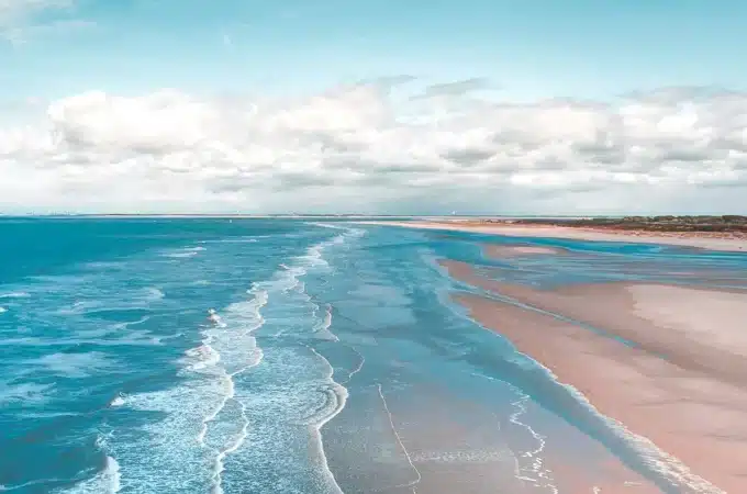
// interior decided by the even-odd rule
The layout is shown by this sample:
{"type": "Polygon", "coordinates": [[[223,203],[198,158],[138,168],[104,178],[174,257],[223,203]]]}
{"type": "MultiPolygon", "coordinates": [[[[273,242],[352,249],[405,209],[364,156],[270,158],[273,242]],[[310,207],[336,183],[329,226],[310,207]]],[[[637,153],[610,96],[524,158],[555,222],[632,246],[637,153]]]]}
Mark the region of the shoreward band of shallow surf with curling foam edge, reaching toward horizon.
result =
{"type": "MultiPolygon", "coordinates": [[[[335,340],[336,336],[331,332],[333,307],[306,292],[306,278],[330,270],[325,251],[355,235],[355,231],[345,229],[312,245],[303,255],[279,265],[270,279],[257,283],[269,295],[264,312],[270,323],[261,329],[267,338],[266,358],[247,382],[252,393],[237,398],[253,424],[253,447],[232,450],[237,458],[231,465],[277,464],[286,471],[289,491],[342,492],[327,464],[321,428],[344,408],[347,390],[335,382],[333,366],[314,348],[320,339],[335,340]],[[304,348],[308,351],[302,351],[304,348]],[[309,444],[313,445],[311,456],[302,446],[309,444]],[[296,482],[312,482],[314,487],[296,482]]],[[[225,481],[231,490],[271,489],[268,479],[246,479],[233,468],[228,472],[225,481]]]]}

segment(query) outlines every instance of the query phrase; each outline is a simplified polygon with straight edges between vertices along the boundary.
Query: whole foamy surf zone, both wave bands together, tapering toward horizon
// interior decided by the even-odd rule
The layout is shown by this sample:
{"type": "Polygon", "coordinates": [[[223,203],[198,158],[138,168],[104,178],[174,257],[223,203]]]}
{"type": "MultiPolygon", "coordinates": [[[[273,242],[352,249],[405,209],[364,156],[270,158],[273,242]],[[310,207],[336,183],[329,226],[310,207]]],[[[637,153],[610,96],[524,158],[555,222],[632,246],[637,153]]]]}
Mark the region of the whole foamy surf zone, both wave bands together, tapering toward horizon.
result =
{"type": "MultiPolygon", "coordinates": [[[[305,435],[311,434],[314,445],[315,473],[312,475],[317,479],[314,482],[321,482],[320,486],[325,485],[327,491],[341,492],[326,464],[321,428],[343,409],[347,390],[334,381],[332,364],[311,346],[320,339],[336,340],[331,332],[333,307],[314,302],[305,292],[303,278],[310,272],[330,269],[324,258],[325,249],[357,235],[358,232],[346,229],[312,245],[303,255],[287,259],[268,279],[252,283],[246,300],[219,308],[218,318],[202,325],[200,344],[187,350],[179,360],[179,375],[183,379],[177,386],[118,395],[110,402],[110,407],[164,414],[161,419],[143,427],[141,438],[112,437],[109,451],[122,464],[123,490],[221,494],[224,489],[234,491],[234,473],[241,476],[238,482],[263,483],[266,482],[263,479],[247,481],[244,470],[230,468],[227,473],[226,465],[233,463],[226,462],[234,454],[242,454],[236,459],[239,464],[277,462],[280,468],[281,463],[292,461],[289,451],[300,460],[306,454],[304,448],[289,450],[281,445],[296,440],[283,435],[305,430],[302,440],[306,441],[305,435]],[[275,335],[272,330],[266,332],[264,313],[268,308],[278,316],[274,317],[275,335]],[[277,345],[271,344],[274,356],[268,363],[267,349],[259,347],[257,333],[270,338],[285,334],[289,343],[274,340],[277,345]],[[298,353],[299,348],[303,348],[298,346],[300,341],[311,343],[308,346],[311,353],[305,357],[298,353]],[[252,374],[248,374],[250,369],[252,374]],[[263,375],[269,379],[263,379],[263,375]],[[250,388],[243,385],[245,382],[250,388]],[[309,413],[312,404],[313,411],[309,413]],[[277,430],[281,417],[291,419],[282,423],[289,427],[291,424],[303,427],[292,431],[277,430]],[[258,434],[261,435],[259,438],[258,434]],[[250,436],[252,448],[247,448],[250,436]],[[263,448],[270,449],[263,456],[263,448]],[[148,454],[144,456],[146,449],[148,454]],[[210,465],[208,470],[205,464],[210,465]],[[165,470],[178,471],[180,475],[164,475],[165,470]],[[232,475],[227,481],[231,489],[226,484],[228,474],[232,475]]],[[[289,473],[289,476],[293,475],[289,473]]],[[[292,482],[296,481],[293,476],[292,482]]]]}

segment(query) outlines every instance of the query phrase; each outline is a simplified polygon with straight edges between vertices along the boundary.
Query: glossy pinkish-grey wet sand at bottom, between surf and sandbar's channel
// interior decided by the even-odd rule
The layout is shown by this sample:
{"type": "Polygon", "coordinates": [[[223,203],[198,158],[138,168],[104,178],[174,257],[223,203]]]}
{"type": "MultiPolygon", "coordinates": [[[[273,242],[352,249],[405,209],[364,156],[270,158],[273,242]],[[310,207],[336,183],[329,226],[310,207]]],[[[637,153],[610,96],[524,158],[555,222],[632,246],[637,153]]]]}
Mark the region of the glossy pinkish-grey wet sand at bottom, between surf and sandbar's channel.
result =
{"type": "Polygon", "coordinates": [[[352,408],[324,433],[327,459],[346,493],[660,492],[575,427],[555,416],[547,423],[544,411],[520,417],[553,431],[537,450],[521,422],[431,385],[378,384],[348,403],[352,408]]]}

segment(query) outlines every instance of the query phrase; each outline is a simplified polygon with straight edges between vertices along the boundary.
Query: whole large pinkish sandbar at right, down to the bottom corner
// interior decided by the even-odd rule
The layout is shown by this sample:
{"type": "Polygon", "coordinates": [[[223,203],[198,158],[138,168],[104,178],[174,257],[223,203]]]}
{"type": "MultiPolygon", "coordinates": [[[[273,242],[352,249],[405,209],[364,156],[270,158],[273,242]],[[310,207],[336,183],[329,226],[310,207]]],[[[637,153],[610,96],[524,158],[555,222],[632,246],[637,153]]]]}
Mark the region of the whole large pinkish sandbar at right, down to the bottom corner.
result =
{"type": "Polygon", "coordinates": [[[640,344],[509,303],[457,297],[602,414],[688,465],[692,482],[699,475],[726,492],[745,491],[747,360],[739,330],[747,294],[623,283],[536,291],[483,279],[464,263],[444,265],[468,283],[640,344]]]}

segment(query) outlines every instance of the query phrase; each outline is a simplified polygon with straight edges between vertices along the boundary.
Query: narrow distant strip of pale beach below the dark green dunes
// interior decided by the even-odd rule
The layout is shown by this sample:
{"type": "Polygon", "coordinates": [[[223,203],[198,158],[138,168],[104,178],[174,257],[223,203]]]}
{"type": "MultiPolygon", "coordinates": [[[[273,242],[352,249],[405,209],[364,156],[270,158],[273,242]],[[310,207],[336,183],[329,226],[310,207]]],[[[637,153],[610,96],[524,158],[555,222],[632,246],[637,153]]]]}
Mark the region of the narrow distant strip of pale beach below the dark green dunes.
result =
{"type": "Polygon", "coordinates": [[[747,239],[711,238],[700,234],[671,233],[651,234],[632,231],[599,231],[592,228],[554,226],[554,225],[472,225],[464,222],[359,222],[368,225],[403,226],[420,229],[445,229],[453,232],[471,232],[487,235],[504,235],[509,237],[545,237],[568,238],[590,242],[628,242],[637,244],[660,244],[680,247],[695,247],[707,250],[747,252],[747,239]]]}

